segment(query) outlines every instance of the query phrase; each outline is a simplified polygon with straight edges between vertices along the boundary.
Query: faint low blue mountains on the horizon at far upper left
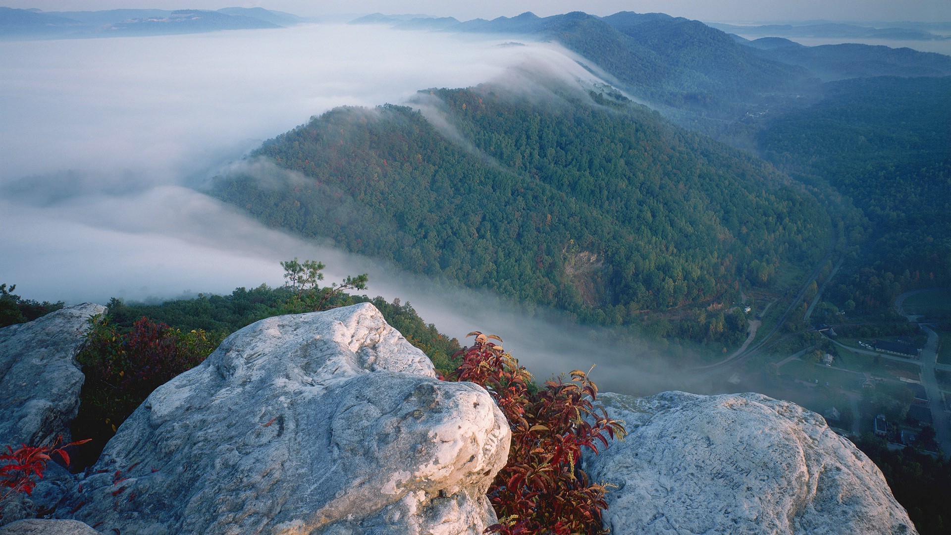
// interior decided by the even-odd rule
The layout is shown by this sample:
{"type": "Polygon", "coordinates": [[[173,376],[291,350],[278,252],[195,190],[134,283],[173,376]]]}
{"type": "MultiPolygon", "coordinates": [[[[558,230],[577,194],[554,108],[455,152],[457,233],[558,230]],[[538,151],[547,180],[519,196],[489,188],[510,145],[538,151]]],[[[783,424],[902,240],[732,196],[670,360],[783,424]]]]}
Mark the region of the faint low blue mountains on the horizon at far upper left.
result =
{"type": "Polygon", "coordinates": [[[262,8],[41,11],[0,8],[0,39],[164,35],[281,28],[305,19],[262,8]]]}

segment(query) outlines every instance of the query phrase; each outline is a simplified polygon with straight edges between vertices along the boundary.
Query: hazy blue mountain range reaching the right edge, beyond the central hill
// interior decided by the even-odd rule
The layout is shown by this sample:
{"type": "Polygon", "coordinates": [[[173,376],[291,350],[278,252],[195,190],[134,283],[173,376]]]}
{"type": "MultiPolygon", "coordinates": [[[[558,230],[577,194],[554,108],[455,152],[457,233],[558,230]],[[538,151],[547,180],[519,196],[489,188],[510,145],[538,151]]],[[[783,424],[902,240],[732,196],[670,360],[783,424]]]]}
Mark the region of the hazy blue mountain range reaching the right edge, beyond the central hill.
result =
{"type": "MultiPolygon", "coordinates": [[[[621,11],[599,17],[574,11],[539,17],[526,12],[465,22],[374,13],[351,24],[554,41],[592,62],[589,67],[603,69],[613,77],[611,83],[680,125],[715,137],[735,129],[736,121],[744,118],[765,119],[814,102],[822,97],[823,82],[856,76],[951,74],[951,57],[934,52],[869,45],[804,47],[776,37],[749,41],[718,30],[717,25],[664,13],[621,11]]],[[[820,26],[829,31],[834,30],[831,27],[859,28],[828,24],[799,28],[820,26]]]]}

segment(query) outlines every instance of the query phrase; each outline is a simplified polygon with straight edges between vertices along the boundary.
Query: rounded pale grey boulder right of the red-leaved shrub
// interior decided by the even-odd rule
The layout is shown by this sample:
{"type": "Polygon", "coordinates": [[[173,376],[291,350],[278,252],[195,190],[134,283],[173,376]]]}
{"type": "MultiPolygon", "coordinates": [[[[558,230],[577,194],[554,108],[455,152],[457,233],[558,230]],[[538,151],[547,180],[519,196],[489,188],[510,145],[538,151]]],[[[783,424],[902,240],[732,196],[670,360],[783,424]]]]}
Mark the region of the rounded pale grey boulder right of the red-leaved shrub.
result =
{"type": "Polygon", "coordinates": [[[915,533],[882,472],[822,416],[761,394],[598,397],[630,435],[586,456],[611,533],[915,533]]]}

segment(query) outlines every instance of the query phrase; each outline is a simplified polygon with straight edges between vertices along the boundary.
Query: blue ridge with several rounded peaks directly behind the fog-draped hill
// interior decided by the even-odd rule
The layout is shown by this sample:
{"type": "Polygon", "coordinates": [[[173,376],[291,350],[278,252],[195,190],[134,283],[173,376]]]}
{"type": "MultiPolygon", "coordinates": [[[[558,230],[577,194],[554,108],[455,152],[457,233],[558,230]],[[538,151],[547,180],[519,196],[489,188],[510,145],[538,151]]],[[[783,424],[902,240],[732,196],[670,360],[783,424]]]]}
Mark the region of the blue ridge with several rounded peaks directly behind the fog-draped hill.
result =
{"type": "Polygon", "coordinates": [[[446,30],[553,40],[653,105],[721,119],[742,115],[764,98],[801,92],[810,77],[806,69],[760,57],[720,30],[663,13],[622,11],[603,18],[580,11],[544,18],[523,13],[446,30]]]}

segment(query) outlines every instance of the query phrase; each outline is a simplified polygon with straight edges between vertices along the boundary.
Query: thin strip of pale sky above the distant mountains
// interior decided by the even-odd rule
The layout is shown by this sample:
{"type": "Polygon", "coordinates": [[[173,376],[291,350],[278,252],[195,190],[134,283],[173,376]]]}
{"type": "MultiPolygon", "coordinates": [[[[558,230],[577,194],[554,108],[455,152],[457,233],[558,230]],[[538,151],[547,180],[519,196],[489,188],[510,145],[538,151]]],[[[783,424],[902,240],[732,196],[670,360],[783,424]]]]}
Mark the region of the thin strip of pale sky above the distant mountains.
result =
{"type": "Polygon", "coordinates": [[[40,10],[111,10],[153,8],[163,10],[260,6],[299,15],[332,13],[427,13],[466,20],[476,17],[514,16],[533,11],[540,16],[581,10],[597,15],[617,11],[660,11],[705,21],[784,21],[827,19],[839,21],[951,21],[948,0],[0,0],[10,8],[40,10]]]}

